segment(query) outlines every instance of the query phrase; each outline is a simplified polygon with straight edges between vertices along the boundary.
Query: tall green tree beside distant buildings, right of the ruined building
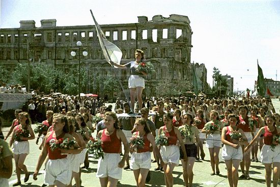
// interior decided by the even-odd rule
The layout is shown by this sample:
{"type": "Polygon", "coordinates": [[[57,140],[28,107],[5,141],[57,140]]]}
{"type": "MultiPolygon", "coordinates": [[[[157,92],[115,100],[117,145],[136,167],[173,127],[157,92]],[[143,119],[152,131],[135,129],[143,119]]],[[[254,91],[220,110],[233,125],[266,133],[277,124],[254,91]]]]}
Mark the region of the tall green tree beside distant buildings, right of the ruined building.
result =
{"type": "Polygon", "coordinates": [[[215,81],[215,86],[213,85],[212,91],[216,95],[226,95],[227,80],[221,76],[220,70],[216,67],[213,68],[213,80],[215,81]]]}

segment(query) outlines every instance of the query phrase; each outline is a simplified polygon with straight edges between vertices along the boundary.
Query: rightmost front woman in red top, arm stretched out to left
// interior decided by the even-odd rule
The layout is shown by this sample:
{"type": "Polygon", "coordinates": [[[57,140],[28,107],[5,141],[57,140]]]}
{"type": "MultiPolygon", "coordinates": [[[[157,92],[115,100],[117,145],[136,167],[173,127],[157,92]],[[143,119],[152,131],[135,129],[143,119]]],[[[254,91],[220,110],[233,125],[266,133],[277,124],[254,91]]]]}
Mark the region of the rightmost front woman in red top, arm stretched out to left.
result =
{"type": "MultiPolygon", "coordinates": [[[[258,138],[263,134],[264,136],[264,146],[261,151],[261,162],[265,166],[265,181],[266,186],[271,186],[271,168],[273,170],[273,187],[277,186],[280,174],[280,145],[273,141],[273,136],[280,134],[280,128],[275,125],[274,116],[266,116],[266,125],[262,127],[255,138],[249,143],[249,145],[244,149],[245,152],[250,150],[251,146],[257,142],[258,138]]],[[[249,154],[249,153],[248,153],[249,154]]]]}

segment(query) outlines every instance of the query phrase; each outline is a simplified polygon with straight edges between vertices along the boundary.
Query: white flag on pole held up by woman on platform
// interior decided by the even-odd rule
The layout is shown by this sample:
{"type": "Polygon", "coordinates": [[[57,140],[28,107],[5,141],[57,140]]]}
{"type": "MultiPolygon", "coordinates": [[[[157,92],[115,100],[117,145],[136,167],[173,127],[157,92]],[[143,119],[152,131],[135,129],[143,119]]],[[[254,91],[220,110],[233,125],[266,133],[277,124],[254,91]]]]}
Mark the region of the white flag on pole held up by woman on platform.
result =
{"type": "MultiPolygon", "coordinates": [[[[91,11],[91,13],[92,13],[92,11],[91,11]]],[[[111,64],[110,61],[113,61],[116,64],[120,64],[122,56],[123,56],[122,51],[115,44],[107,41],[106,36],[102,32],[98,23],[96,22],[96,20],[93,16],[93,13],[92,13],[92,17],[93,17],[93,20],[94,20],[94,23],[95,23],[95,28],[96,28],[96,31],[97,31],[99,43],[100,43],[100,46],[102,48],[103,55],[104,55],[106,61],[109,64],[111,64]]]]}

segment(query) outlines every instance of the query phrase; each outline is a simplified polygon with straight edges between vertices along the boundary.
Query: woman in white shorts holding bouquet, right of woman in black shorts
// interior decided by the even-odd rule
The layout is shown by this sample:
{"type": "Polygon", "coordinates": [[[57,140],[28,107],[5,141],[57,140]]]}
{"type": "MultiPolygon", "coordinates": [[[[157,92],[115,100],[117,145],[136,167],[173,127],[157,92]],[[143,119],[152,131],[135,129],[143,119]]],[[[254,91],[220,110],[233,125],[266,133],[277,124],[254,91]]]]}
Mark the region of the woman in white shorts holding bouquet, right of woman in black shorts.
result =
{"type": "Polygon", "coordinates": [[[212,167],[212,173],[210,175],[220,174],[219,170],[219,152],[221,148],[221,135],[220,131],[223,128],[223,124],[219,121],[218,112],[211,110],[210,112],[211,121],[207,122],[202,129],[202,133],[206,133],[206,147],[209,149],[210,162],[212,167]]]}

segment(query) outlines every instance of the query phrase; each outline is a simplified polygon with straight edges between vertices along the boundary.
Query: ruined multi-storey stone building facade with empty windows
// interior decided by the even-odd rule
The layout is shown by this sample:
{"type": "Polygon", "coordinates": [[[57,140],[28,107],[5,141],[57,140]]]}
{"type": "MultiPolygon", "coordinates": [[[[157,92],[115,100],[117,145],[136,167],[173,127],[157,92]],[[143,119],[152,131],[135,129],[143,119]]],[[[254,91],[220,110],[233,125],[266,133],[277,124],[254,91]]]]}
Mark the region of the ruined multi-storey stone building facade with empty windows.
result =
{"type": "MultiPolygon", "coordinates": [[[[135,49],[142,49],[146,61],[152,62],[156,72],[146,80],[146,95],[154,95],[153,88],[159,80],[191,82],[192,31],[187,16],[156,15],[150,21],[146,16],[138,16],[137,23],[100,27],[108,41],[122,50],[122,64],[134,60],[135,49]]],[[[77,41],[88,51],[86,57],[81,55],[81,66],[86,66],[88,76],[111,74],[121,79],[127,88],[129,70],[118,69],[115,73],[105,61],[94,25],[57,26],[55,19],[48,19],[41,20],[41,27],[36,27],[35,21],[24,20],[20,21],[20,28],[0,29],[0,64],[12,69],[19,62],[33,59],[34,63],[46,63],[67,72],[78,65],[77,56],[70,55],[77,50],[77,41]]],[[[92,89],[89,83],[82,92],[92,92],[92,89]]]]}

